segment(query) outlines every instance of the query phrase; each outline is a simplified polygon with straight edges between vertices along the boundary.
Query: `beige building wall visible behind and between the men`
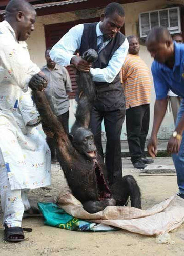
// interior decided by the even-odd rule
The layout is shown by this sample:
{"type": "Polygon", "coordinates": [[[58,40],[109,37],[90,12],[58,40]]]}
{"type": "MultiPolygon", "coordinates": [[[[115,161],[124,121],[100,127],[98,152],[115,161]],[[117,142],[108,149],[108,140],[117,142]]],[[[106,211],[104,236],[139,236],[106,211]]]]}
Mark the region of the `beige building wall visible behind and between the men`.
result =
{"type": "MultiPolygon", "coordinates": [[[[123,4],[125,8],[125,33],[126,36],[135,34],[138,35],[138,15],[140,12],[152,11],[161,8],[168,8],[171,5],[183,4],[184,0],[147,0],[129,4],[123,4]]],[[[44,25],[55,24],[61,22],[69,22],[77,19],[85,19],[92,17],[99,17],[101,9],[90,9],[90,10],[81,10],[69,13],[61,13],[54,15],[46,15],[37,17],[35,30],[32,33],[31,38],[28,40],[29,52],[32,58],[32,61],[37,63],[39,67],[42,67],[45,64],[44,52],[45,52],[45,34],[44,34],[44,25]]],[[[146,50],[144,45],[140,46],[140,56],[151,67],[152,59],[149,53],[146,50]]],[[[155,101],[154,88],[152,88],[152,97],[151,97],[151,118],[150,118],[150,129],[149,136],[151,132],[151,127],[153,124],[153,108],[155,101]]],[[[71,101],[70,107],[70,125],[74,121],[74,112],[75,112],[75,102],[71,101]]],[[[158,137],[160,139],[167,139],[171,132],[174,130],[173,116],[172,113],[169,115],[166,114],[166,117],[161,125],[158,137]]],[[[148,136],[148,137],[149,137],[148,136]]],[[[122,129],[121,139],[127,139],[126,137],[126,127],[125,123],[122,129]]]]}

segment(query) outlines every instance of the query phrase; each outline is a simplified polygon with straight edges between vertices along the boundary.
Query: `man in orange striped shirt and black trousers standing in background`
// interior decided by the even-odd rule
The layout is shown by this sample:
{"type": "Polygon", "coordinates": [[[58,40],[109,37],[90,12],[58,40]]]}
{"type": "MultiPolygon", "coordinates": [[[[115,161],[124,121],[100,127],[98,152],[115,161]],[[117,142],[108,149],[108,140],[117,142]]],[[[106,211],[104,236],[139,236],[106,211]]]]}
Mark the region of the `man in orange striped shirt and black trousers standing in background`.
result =
{"type": "Polygon", "coordinates": [[[150,121],[151,77],[150,71],[139,56],[139,41],[136,36],[127,37],[129,54],[122,67],[122,82],[126,96],[127,139],[132,164],[144,169],[153,159],[145,156],[145,142],[150,121]]]}

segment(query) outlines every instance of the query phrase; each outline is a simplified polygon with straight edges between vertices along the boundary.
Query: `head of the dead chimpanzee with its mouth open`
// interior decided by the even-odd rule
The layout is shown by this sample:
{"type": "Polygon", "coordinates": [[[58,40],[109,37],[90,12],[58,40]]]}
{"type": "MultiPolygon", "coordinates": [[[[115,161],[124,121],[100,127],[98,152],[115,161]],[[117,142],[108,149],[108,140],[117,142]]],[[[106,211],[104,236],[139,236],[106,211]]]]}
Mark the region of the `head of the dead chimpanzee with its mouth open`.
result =
{"type": "Polygon", "coordinates": [[[94,136],[89,129],[85,129],[83,127],[77,128],[72,137],[72,144],[77,151],[84,154],[88,159],[96,158],[94,136]]]}

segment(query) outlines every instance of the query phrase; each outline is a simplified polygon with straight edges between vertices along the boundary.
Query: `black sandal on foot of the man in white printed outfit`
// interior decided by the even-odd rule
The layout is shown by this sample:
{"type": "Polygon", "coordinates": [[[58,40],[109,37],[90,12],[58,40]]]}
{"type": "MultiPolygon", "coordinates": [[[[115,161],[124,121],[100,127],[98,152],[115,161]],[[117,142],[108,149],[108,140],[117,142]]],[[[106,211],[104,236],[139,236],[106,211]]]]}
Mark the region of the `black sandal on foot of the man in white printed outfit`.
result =
{"type": "Polygon", "coordinates": [[[21,227],[8,227],[4,225],[4,240],[9,242],[21,242],[24,241],[24,232],[32,232],[31,228],[21,228],[21,227]]]}

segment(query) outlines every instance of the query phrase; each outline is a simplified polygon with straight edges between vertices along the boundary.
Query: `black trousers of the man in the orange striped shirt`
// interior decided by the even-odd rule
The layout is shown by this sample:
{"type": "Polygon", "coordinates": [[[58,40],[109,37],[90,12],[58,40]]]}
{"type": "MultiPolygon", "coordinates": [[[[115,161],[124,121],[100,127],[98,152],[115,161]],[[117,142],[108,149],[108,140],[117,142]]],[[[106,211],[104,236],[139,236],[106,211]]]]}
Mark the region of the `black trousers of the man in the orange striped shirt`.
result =
{"type": "Polygon", "coordinates": [[[126,110],[126,127],[132,163],[145,157],[145,142],[150,123],[150,104],[126,110]]]}

